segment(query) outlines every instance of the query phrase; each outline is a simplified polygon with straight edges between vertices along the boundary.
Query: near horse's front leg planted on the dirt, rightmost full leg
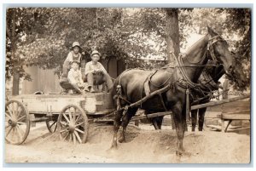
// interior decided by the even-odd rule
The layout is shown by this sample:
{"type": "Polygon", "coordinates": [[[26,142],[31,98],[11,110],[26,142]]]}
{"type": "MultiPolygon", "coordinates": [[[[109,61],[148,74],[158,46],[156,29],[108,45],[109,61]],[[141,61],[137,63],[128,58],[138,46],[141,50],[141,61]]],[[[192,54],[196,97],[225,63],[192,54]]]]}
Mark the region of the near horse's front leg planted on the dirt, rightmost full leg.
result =
{"type": "Polygon", "coordinates": [[[186,129],[186,110],[181,101],[178,101],[176,105],[172,107],[172,113],[177,134],[177,151],[178,156],[183,154],[183,137],[186,129]]]}

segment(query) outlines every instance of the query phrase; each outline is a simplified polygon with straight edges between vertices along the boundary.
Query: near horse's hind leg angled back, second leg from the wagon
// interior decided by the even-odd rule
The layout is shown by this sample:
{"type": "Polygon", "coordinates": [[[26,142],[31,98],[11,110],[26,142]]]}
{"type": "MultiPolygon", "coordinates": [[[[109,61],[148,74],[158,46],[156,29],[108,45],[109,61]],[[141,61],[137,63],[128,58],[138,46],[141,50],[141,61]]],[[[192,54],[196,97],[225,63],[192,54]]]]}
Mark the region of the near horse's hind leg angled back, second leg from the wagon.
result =
{"type": "Polygon", "coordinates": [[[123,127],[123,132],[119,137],[119,143],[125,142],[126,141],[126,128],[128,123],[131,120],[131,117],[135,116],[137,112],[137,108],[129,108],[126,112],[124,117],[122,117],[122,127],[123,127]]]}

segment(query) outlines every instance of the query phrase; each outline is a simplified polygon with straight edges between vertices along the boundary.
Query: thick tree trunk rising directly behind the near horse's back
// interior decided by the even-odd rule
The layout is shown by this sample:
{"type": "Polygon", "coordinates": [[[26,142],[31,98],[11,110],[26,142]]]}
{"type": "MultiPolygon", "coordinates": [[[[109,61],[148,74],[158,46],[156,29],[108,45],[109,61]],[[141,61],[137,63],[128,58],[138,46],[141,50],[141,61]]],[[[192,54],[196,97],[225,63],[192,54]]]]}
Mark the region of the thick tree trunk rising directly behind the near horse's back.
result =
{"type": "Polygon", "coordinates": [[[166,43],[167,61],[175,64],[175,56],[179,54],[179,29],[178,29],[178,9],[166,10],[166,43]]]}

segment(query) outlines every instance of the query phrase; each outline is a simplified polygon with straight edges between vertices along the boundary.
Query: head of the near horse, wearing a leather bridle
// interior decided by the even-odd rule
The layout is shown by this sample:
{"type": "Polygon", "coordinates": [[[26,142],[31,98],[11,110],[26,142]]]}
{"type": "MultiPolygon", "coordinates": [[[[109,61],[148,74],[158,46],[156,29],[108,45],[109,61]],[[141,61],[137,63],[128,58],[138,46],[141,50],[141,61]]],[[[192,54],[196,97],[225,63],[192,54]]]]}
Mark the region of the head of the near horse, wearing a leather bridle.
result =
{"type": "Polygon", "coordinates": [[[223,64],[226,74],[231,75],[236,62],[234,56],[230,53],[228,43],[209,26],[207,26],[207,30],[209,35],[208,52],[212,60],[223,64]]]}

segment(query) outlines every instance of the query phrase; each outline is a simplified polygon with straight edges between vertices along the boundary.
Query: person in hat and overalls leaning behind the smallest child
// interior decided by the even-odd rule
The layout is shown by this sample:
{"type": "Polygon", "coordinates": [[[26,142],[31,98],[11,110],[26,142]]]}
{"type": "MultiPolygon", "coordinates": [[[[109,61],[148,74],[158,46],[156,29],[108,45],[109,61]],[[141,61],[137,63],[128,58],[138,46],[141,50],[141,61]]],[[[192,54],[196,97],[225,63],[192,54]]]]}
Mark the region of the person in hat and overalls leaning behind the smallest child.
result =
{"type": "Polygon", "coordinates": [[[62,77],[67,77],[67,72],[70,69],[70,66],[73,60],[76,60],[80,64],[80,61],[81,61],[81,54],[79,53],[80,49],[81,47],[78,42],[74,42],[72,44],[72,50],[67,54],[67,58],[63,64],[62,77]]]}

